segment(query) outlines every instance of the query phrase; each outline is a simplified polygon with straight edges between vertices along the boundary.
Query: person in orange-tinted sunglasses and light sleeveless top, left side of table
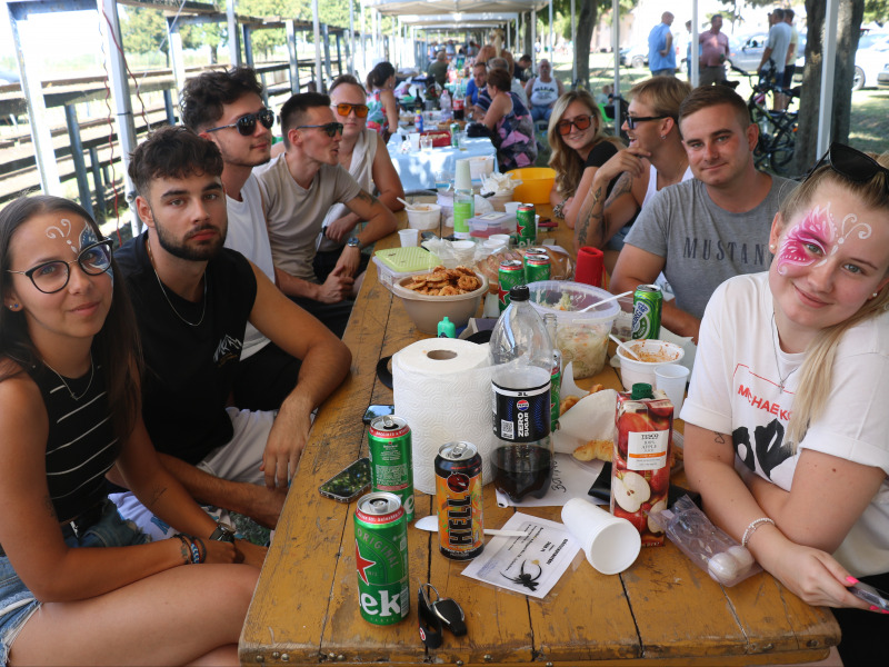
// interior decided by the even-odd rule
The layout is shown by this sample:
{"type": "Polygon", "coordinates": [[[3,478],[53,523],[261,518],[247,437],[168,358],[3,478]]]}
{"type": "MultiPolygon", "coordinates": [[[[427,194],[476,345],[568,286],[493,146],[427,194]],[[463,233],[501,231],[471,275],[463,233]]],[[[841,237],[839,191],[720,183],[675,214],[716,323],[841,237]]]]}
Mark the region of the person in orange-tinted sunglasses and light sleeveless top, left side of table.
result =
{"type": "MultiPolygon", "coordinates": [[[[400,211],[404,208],[399,201],[399,198],[404,198],[404,189],[382,137],[366,127],[368,106],[364,103],[364,88],[351,74],[341,74],[331,83],[329,94],[333,117],[342,123],[340,165],[354,177],[362,190],[373,192],[376,188],[379,191],[377,198],[390,211],[400,211]]],[[[360,221],[343,203],[337,203],[328,211],[313,260],[314,273],[321,282],[337,266],[346,240],[360,221]]],[[[362,253],[361,258],[361,266],[354,276],[359,276],[367,267],[368,256],[362,253]]],[[[357,280],[356,293],[359,288],[357,280]]]]}

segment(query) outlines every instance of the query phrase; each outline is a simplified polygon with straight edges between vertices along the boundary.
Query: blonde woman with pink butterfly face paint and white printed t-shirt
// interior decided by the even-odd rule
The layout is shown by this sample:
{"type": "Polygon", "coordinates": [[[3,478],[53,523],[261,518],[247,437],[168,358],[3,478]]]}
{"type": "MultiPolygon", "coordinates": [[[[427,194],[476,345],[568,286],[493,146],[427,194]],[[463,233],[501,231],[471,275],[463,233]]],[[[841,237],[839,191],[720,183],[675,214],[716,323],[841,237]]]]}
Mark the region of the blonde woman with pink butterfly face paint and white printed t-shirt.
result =
{"type": "Polygon", "coordinates": [[[681,415],[707,514],[805,601],[839,608],[847,665],[872,664],[889,629],[849,590],[889,589],[888,167],[835,143],[785,200],[769,271],[707,306],[681,415]]]}

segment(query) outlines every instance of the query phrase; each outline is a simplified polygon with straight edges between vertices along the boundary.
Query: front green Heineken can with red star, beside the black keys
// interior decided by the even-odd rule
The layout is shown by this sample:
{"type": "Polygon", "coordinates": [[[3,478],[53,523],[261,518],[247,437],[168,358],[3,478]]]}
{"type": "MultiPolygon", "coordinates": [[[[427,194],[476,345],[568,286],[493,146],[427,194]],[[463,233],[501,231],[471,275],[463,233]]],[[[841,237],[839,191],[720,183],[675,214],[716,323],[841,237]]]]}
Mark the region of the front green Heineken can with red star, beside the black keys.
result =
{"type": "Polygon", "coordinates": [[[394,625],[408,617],[408,521],[394,494],[362,496],[354,510],[354,560],[361,617],[394,625]]]}

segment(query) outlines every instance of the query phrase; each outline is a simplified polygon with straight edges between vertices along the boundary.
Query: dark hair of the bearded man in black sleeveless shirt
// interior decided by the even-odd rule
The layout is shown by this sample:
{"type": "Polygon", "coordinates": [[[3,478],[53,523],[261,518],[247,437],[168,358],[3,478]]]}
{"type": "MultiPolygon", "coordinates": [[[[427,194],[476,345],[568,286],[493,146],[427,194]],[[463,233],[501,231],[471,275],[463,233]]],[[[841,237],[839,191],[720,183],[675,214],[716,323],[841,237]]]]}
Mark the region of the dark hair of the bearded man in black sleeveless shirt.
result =
{"type": "Polygon", "coordinates": [[[128,172],[136,190],[148,197],[148,188],[156,178],[222,176],[222,155],[216,143],[182,126],[166,126],[136,147],[128,172]]]}

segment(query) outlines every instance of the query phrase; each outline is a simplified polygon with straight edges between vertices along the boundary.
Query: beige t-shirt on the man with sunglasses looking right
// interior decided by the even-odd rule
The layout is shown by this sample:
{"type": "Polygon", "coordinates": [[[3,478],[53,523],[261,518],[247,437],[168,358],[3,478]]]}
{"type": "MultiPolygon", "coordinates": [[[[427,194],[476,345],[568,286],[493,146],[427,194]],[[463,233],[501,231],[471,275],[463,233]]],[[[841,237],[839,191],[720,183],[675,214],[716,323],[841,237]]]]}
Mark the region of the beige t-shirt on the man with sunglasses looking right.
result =
{"type": "Polygon", "coordinates": [[[268,206],[271,256],[282,271],[318,282],[312,260],[321,222],[331,206],[358,197],[361,186],[340,165],[321,165],[311,185],[303,188],[293,180],[286,156],[253,169],[268,206]]]}

